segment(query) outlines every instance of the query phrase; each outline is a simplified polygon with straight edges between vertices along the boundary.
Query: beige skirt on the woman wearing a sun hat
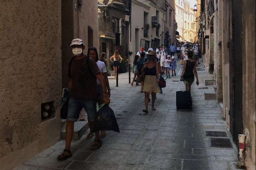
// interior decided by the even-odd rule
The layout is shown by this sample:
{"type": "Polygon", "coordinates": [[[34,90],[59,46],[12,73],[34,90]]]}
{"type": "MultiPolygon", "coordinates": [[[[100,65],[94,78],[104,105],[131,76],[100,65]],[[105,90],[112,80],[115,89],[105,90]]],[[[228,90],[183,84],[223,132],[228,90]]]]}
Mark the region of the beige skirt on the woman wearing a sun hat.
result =
{"type": "Polygon", "coordinates": [[[143,91],[154,92],[154,93],[160,92],[160,89],[158,88],[158,85],[157,85],[157,77],[156,76],[145,75],[145,79],[143,82],[143,91]]]}

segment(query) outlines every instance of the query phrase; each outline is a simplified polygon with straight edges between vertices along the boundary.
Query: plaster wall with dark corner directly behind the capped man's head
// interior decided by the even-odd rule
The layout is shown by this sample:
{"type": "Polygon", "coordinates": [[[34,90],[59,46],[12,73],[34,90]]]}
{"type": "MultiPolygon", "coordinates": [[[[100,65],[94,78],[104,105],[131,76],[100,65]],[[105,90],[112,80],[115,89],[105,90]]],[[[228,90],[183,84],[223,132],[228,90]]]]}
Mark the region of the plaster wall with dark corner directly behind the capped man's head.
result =
{"type": "Polygon", "coordinates": [[[61,0],[62,3],[62,87],[68,84],[68,64],[73,57],[70,47],[71,41],[80,38],[84,41],[84,54],[87,54],[88,47],[93,46],[99,52],[99,20],[98,1],[81,0],[81,12],[77,0],[61,0]],[[75,8],[76,6],[76,8],[75,8]],[[92,31],[88,35],[88,29],[92,31]],[[88,39],[88,37],[91,37],[88,39]],[[89,44],[89,45],[88,45],[89,44]]]}

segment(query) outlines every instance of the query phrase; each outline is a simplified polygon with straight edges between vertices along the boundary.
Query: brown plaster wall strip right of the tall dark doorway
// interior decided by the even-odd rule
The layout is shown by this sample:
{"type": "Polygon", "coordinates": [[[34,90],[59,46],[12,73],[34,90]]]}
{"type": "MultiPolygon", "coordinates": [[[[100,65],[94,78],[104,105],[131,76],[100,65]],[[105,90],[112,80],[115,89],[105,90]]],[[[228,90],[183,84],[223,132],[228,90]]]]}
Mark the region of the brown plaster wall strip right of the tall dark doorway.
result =
{"type": "Polygon", "coordinates": [[[255,0],[242,1],[243,28],[243,125],[246,167],[255,170],[255,0]]]}

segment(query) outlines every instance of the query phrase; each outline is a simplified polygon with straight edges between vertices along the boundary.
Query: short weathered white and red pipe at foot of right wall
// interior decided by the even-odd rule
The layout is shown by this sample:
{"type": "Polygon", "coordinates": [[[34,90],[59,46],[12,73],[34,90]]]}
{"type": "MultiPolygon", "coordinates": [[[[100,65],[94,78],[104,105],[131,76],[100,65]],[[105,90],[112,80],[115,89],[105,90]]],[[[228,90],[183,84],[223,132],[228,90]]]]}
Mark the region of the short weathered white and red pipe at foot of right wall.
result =
{"type": "Polygon", "coordinates": [[[237,166],[243,167],[244,166],[244,160],[245,160],[245,138],[246,135],[239,134],[238,140],[239,140],[239,153],[238,153],[238,161],[237,166]]]}

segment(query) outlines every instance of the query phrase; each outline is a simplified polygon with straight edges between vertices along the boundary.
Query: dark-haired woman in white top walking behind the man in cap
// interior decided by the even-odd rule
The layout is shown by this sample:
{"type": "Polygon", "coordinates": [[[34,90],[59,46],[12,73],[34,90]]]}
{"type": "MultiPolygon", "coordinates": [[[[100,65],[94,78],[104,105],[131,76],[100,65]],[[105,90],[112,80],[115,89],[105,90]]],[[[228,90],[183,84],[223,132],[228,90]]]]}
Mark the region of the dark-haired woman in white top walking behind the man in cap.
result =
{"type": "MultiPolygon", "coordinates": [[[[100,72],[102,73],[102,75],[104,77],[104,80],[105,80],[105,83],[106,83],[106,86],[107,86],[108,97],[110,97],[110,87],[109,87],[109,82],[108,82],[108,73],[107,73],[107,70],[106,70],[105,63],[102,62],[102,61],[99,61],[98,52],[97,52],[97,49],[95,47],[88,48],[87,56],[91,57],[92,59],[94,59],[96,61],[96,64],[98,65],[99,70],[100,70],[100,72]]],[[[102,91],[102,87],[100,85],[99,80],[96,79],[96,81],[97,81],[97,89],[98,89],[97,90],[97,93],[98,93],[97,102],[98,102],[98,105],[102,105],[104,103],[103,91],[102,91]]],[[[90,136],[93,136],[93,134],[89,133],[88,138],[90,138],[90,136]]],[[[106,136],[106,131],[105,130],[101,130],[101,136],[102,137],[106,136]]]]}

